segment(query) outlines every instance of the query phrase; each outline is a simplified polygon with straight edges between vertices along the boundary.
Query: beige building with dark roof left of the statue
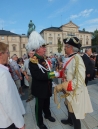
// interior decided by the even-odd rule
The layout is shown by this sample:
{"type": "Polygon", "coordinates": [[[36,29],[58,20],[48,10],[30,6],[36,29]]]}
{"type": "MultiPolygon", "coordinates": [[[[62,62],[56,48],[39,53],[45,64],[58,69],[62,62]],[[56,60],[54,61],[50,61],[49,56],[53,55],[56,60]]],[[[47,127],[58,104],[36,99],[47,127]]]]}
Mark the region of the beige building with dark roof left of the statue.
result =
{"type": "Polygon", "coordinates": [[[22,57],[26,54],[25,45],[28,42],[26,35],[18,35],[6,30],[0,30],[0,42],[4,42],[9,45],[10,57],[13,54],[17,54],[18,57],[22,57]]]}

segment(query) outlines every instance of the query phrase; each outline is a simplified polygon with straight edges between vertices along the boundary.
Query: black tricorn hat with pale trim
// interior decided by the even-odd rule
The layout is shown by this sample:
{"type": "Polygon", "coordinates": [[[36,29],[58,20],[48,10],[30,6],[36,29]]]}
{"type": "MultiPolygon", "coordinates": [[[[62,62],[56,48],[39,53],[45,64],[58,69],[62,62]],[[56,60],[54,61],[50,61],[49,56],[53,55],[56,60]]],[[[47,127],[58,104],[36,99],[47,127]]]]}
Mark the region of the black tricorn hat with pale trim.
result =
{"type": "Polygon", "coordinates": [[[63,39],[63,42],[65,44],[72,45],[78,49],[80,49],[80,47],[82,46],[77,37],[67,37],[67,38],[63,39]]]}

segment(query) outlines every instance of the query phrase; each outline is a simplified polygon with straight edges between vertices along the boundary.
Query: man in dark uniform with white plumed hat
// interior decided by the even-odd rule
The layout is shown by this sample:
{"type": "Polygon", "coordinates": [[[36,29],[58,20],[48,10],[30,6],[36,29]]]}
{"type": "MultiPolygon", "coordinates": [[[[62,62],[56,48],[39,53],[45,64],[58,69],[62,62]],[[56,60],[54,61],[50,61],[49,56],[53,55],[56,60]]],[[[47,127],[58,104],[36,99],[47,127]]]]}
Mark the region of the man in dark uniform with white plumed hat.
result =
{"type": "Polygon", "coordinates": [[[43,123],[45,119],[55,122],[50,111],[50,97],[52,96],[52,78],[58,77],[58,72],[51,72],[49,64],[44,59],[46,44],[39,33],[33,31],[30,34],[28,50],[35,50],[33,58],[30,58],[29,69],[32,76],[32,94],[35,97],[35,117],[40,129],[47,129],[43,123]]]}

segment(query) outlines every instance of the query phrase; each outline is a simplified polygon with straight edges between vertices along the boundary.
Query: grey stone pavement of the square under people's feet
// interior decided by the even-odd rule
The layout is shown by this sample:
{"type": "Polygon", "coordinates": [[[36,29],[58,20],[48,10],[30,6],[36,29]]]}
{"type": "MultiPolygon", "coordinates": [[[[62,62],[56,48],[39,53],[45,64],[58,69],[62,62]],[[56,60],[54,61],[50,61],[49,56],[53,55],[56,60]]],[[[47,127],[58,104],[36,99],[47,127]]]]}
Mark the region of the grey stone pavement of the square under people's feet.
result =
{"type": "MultiPolygon", "coordinates": [[[[86,118],[81,121],[82,129],[98,129],[98,81],[96,81],[96,84],[93,85],[89,82],[89,85],[87,87],[94,111],[93,113],[87,114],[86,118]]],[[[35,99],[28,103],[23,100],[23,104],[26,109],[26,114],[24,117],[26,129],[39,129],[36,125],[35,120],[35,99]]],[[[50,109],[52,116],[56,118],[56,122],[52,123],[44,119],[44,123],[48,127],[48,129],[73,129],[73,127],[69,125],[63,125],[60,122],[61,119],[67,119],[67,109],[64,105],[64,99],[61,100],[61,108],[57,109],[56,105],[54,104],[54,97],[52,96],[50,109]]]]}

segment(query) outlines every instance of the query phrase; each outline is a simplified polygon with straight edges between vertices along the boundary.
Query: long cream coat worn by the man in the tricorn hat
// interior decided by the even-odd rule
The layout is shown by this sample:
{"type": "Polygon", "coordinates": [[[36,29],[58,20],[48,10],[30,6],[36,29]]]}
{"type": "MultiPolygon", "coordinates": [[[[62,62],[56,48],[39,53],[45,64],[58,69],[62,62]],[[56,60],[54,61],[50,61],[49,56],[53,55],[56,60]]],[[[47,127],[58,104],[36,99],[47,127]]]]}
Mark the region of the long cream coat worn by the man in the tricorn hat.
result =
{"type": "Polygon", "coordinates": [[[73,91],[69,91],[70,94],[67,100],[70,102],[76,119],[84,119],[86,113],[93,112],[90,97],[88,94],[87,87],[85,86],[85,66],[82,58],[79,54],[74,55],[78,58],[79,65],[76,66],[76,60],[73,58],[66,67],[65,74],[67,81],[72,81],[73,91]],[[75,68],[78,70],[78,85],[77,77],[75,75],[75,68]],[[77,85],[77,87],[76,87],[77,85]],[[74,89],[76,89],[75,95],[73,96],[74,89]]]}

